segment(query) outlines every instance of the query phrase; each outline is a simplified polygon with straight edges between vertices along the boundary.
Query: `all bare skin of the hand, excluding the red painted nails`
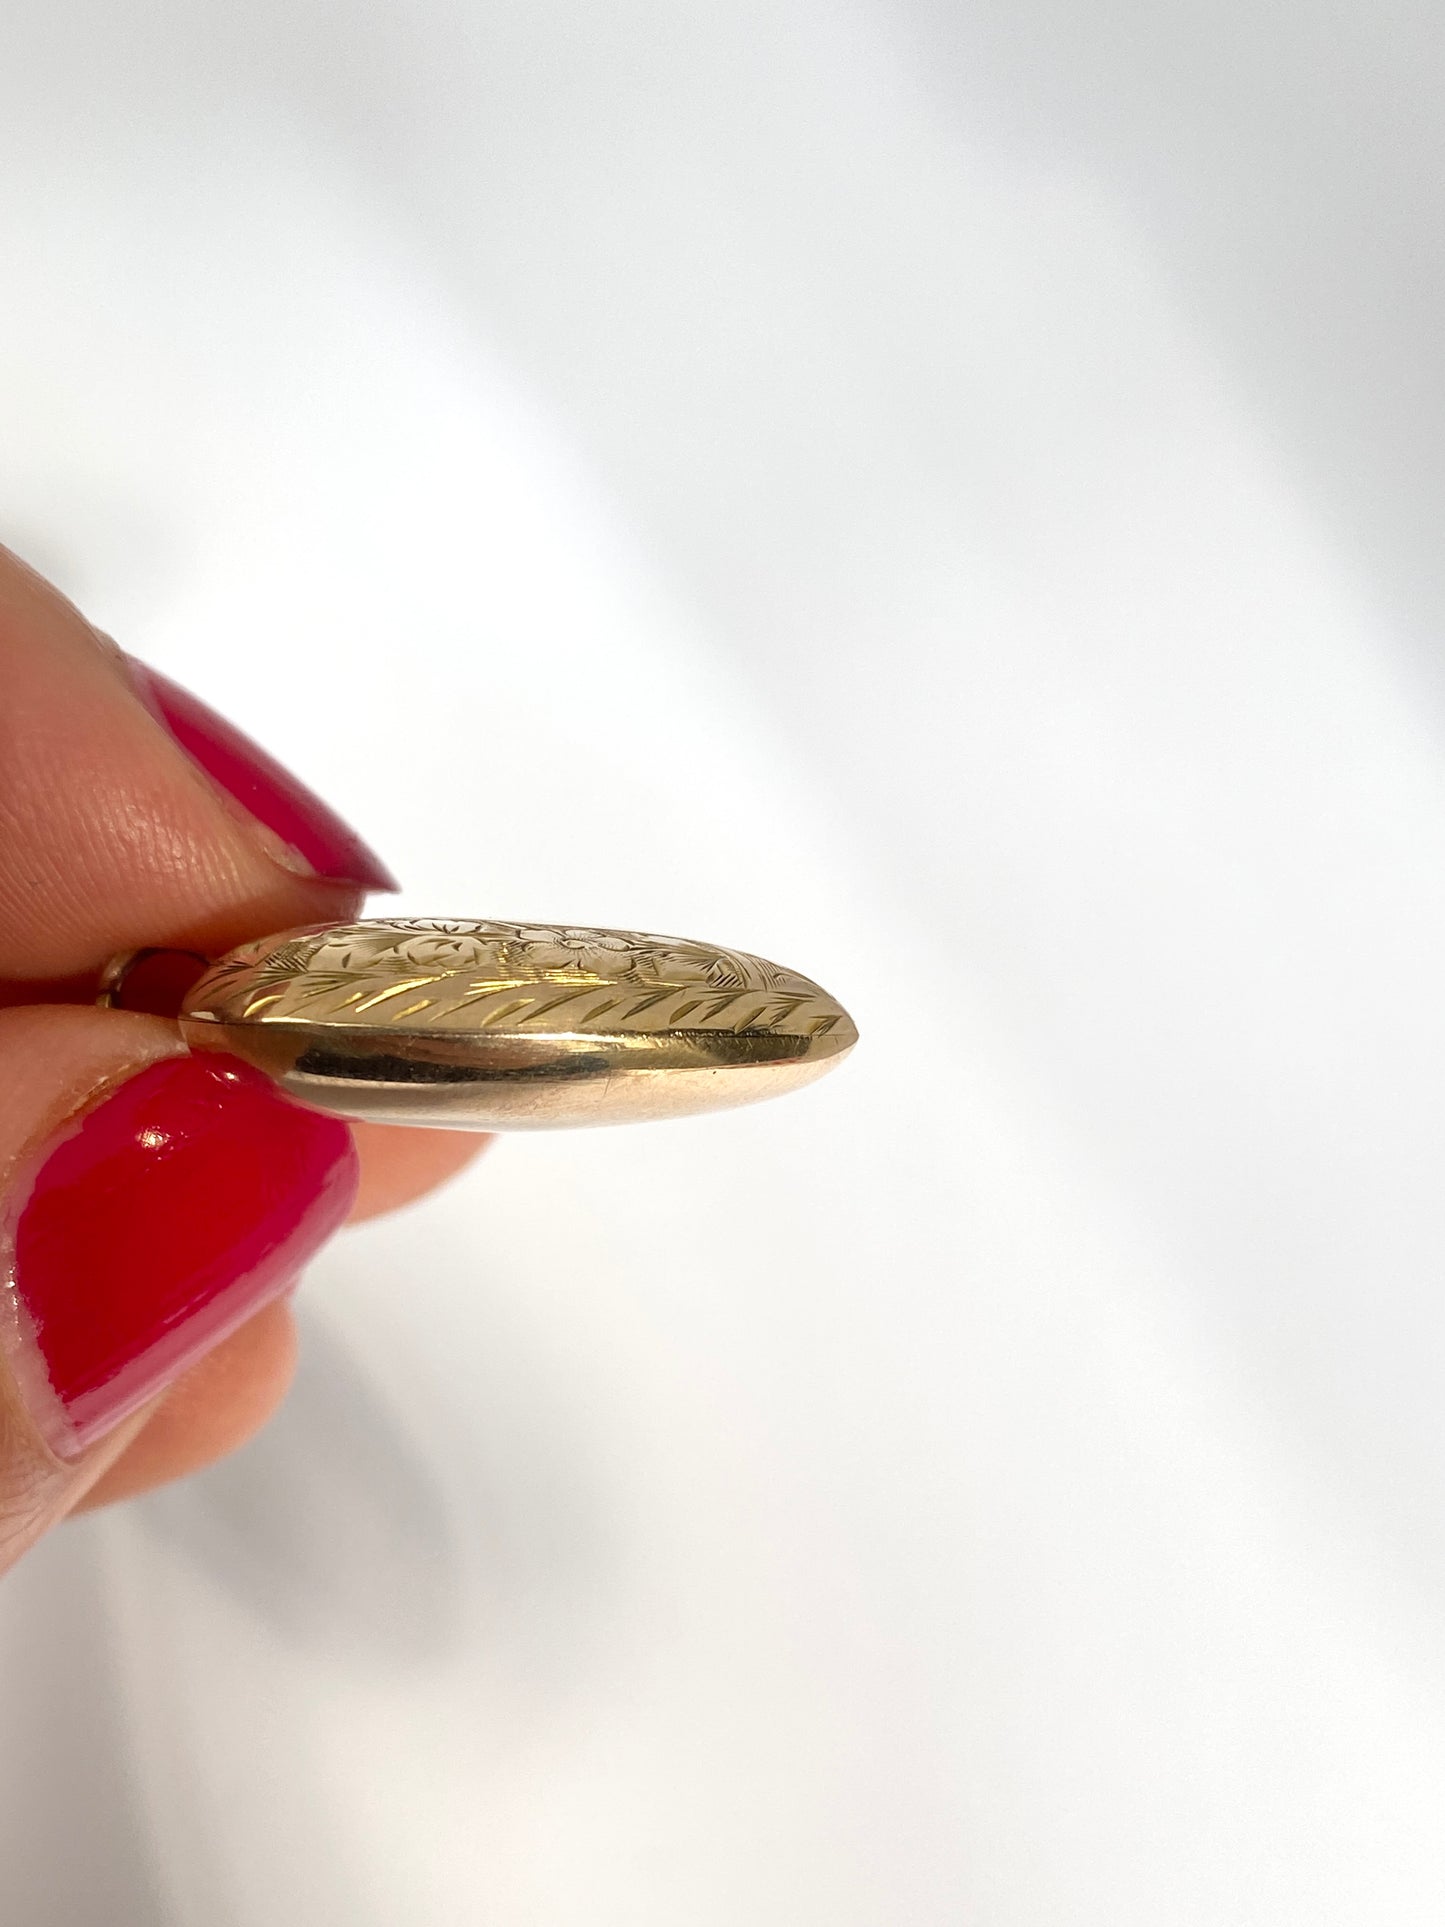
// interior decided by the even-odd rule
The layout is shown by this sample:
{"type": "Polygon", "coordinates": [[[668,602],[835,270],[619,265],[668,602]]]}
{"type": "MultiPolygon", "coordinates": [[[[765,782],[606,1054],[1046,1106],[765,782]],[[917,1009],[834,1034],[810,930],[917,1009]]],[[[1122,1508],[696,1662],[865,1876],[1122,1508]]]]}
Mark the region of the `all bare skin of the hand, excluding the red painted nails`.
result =
{"type": "MultiPolygon", "coordinates": [[[[0,688],[0,1004],[79,1002],[118,950],[218,952],[356,913],[360,892],[299,875],[160,728],[119,651],[2,549],[0,688]]],[[[0,1062],[15,1073],[0,1174],[104,1081],[179,1050],[173,1027],[156,1019],[31,1010],[21,1021],[19,1010],[0,1010],[0,1062]],[[29,1116],[15,1091],[31,1091],[29,1116]]],[[[362,1216],[410,1202],[484,1143],[385,1127],[362,1135],[362,1216]]],[[[229,1449],[274,1411],[291,1360],[289,1312],[268,1308],[79,1466],[50,1457],[0,1372],[0,1545],[29,1544],[37,1520],[60,1517],[87,1488],[102,1503],[229,1449]]]]}

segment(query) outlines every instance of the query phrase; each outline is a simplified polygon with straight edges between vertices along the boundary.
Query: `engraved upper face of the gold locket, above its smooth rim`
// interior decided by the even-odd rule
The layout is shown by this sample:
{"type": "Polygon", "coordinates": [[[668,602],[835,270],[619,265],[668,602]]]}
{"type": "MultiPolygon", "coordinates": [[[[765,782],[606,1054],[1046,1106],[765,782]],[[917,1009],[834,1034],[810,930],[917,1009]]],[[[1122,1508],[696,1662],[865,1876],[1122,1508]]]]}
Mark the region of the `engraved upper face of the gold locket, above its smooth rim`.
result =
{"type": "MultiPolygon", "coordinates": [[[[378,919],[233,950],[195,987],[218,1023],[408,1031],[732,1031],[817,1039],[852,1021],[807,977],[740,950],[563,923],[378,919]]],[[[852,1041],[852,1035],[850,1035],[852,1041]]]]}

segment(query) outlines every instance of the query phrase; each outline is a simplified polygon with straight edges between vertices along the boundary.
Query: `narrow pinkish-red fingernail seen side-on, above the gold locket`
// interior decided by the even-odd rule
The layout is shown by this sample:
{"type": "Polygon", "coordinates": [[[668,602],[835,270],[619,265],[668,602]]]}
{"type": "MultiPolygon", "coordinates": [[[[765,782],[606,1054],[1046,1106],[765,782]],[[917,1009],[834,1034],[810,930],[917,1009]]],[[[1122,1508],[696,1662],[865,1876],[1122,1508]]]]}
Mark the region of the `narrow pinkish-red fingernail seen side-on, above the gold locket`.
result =
{"type": "Polygon", "coordinates": [[[125,661],[146,709],[170,730],[191,761],[279,836],[314,875],[351,883],[360,890],[401,888],[381,858],[341,821],[335,809],[260,744],[243,736],[223,715],[183,690],[179,682],[162,676],[158,669],[139,663],[133,655],[125,661]]]}

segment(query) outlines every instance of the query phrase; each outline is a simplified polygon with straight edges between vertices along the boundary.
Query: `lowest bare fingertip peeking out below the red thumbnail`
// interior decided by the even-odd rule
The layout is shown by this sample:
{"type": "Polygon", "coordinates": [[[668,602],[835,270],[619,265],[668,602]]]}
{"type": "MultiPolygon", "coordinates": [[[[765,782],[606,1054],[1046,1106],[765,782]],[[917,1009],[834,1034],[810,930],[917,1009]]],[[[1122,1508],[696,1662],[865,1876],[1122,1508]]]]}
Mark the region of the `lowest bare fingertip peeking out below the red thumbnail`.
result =
{"type": "Polygon", "coordinates": [[[285,1399],[295,1368],[297,1322],[279,1299],[175,1380],[73,1511],[133,1499],[245,1445],[285,1399]]]}

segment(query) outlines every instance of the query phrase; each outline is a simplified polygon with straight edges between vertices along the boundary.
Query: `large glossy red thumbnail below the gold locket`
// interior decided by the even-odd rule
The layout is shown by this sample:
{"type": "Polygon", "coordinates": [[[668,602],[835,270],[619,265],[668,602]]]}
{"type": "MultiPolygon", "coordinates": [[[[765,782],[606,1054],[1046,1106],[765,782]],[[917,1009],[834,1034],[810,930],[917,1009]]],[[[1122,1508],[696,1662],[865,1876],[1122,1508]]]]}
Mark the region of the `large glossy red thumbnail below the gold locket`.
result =
{"type": "Polygon", "coordinates": [[[335,1231],[356,1148],[231,1058],[166,1058],[37,1154],[0,1231],[21,1391],[71,1457],[268,1299],[335,1231]]]}

